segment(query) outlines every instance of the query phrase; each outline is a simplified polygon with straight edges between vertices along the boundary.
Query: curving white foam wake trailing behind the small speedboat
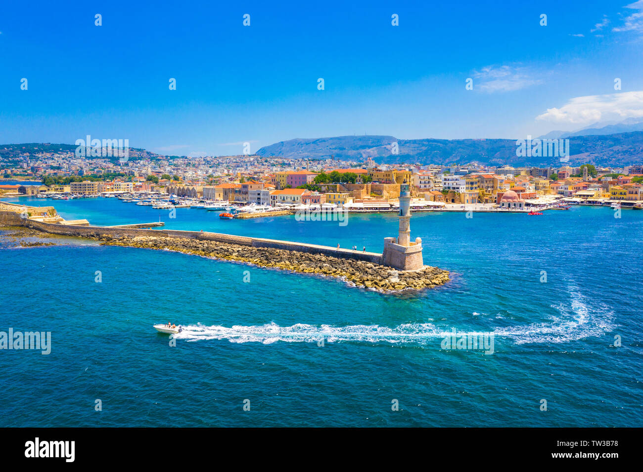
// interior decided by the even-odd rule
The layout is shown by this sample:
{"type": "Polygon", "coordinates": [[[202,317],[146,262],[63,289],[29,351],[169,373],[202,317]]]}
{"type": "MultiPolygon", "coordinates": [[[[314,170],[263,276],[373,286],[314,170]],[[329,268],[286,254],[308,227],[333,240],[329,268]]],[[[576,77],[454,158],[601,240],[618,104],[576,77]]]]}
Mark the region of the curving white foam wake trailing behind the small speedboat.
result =
{"type": "MultiPolygon", "coordinates": [[[[467,331],[457,328],[457,336],[494,335],[505,338],[514,344],[543,344],[572,342],[587,337],[599,337],[612,331],[613,312],[599,304],[588,306],[580,293],[571,292],[568,305],[555,306],[559,315],[541,323],[507,328],[493,328],[489,331],[467,331]]],[[[184,326],[183,332],[175,335],[187,341],[228,340],[235,343],[260,342],[272,344],[281,342],[359,342],[368,344],[435,344],[437,340],[453,335],[449,326],[433,323],[409,323],[390,328],[388,326],[330,324],[294,324],[279,326],[274,322],[257,326],[204,326],[202,324],[184,326]]]]}

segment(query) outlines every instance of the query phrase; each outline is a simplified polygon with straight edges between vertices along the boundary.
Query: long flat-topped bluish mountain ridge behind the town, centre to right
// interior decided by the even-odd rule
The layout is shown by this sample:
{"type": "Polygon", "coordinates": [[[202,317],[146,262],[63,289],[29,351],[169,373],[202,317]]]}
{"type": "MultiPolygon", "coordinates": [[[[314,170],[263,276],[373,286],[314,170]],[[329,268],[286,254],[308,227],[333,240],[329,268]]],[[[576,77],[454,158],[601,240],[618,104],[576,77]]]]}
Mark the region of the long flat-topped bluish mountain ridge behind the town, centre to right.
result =
{"type": "MultiPolygon", "coordinates": [[[[556,138],[549,138],[556,139],[556,138]]],[[[590,162],[604,166],[643,164],[643,132],[570,137],[569,164],[590,162]]],[[[447,165],[477,163],[491,166],[560,166],[558,157],[518,157],[515,139],[396,139],[393,136],[340,136],[291,139],[265,146],[262,157],[338,159],[379,163],[447,165]],[[399,153],[392,153],[397,143],[399,153]]]]}

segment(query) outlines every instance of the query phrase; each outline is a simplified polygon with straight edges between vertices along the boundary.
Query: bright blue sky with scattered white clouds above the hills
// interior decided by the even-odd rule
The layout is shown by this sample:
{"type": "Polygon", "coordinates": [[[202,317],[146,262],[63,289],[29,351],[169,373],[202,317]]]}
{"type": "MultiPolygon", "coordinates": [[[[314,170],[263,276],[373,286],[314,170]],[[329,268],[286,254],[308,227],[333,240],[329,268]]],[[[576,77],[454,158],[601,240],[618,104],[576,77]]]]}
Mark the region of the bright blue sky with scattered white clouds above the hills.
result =
{"type": "Polygon", "coordinates": [[[2,144],[91,135],[237,155],[353,134],[525,139],[640,116],[643,0],[0,4],[2,144]]]}

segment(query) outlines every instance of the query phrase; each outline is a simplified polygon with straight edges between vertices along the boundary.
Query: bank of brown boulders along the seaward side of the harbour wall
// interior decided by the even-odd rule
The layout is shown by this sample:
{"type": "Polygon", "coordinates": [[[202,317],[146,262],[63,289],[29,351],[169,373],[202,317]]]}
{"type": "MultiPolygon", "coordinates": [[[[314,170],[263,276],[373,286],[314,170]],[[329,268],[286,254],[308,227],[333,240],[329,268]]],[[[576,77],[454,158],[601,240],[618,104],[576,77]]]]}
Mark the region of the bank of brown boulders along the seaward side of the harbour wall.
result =
{"type": "Polygon", "coordinates": [[[378,292],[422,290],[443,285],[449,281],[449,272],[426,266],[415,272],[400,272],[392,267],[356,259],[341,259],[324,254],[309,254],[285,249],[242,246],[217,241],[167,236],[98,236],[104,245],[167,249],[208,258],[238,261],[273,267],[303,274],[318,274],[338,277],[355,286],[378,292]]]}

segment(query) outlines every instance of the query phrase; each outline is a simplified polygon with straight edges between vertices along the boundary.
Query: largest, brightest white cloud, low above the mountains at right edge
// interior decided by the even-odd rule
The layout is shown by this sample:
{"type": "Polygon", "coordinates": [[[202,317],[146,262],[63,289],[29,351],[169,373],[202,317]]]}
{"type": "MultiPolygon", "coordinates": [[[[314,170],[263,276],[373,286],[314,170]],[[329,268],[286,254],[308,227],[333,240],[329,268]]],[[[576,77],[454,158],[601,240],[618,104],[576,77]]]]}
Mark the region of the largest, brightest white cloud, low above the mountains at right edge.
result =
{"type": "Polygon", "coordinates": [[[643,91],[587,95],[568,100],[560,108],[548,108],[536,119],[582,125],[599,120],[643,116],[643,91]]]}

